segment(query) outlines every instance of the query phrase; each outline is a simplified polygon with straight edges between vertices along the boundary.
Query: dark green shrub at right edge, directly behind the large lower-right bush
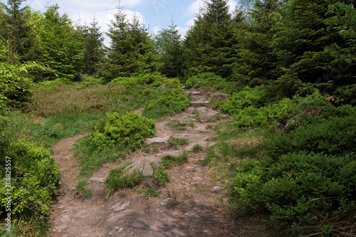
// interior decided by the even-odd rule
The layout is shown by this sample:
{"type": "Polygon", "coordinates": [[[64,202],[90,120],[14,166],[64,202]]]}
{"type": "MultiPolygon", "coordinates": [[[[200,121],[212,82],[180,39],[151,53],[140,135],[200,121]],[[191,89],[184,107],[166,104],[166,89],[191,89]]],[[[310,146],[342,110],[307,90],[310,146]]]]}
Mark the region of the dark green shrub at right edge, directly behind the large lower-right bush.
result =
{"type": "Polygon", "coordinates": [[[271,157],[295,151],[347,154],[356,152],[356,116],[315,118],[287,135],[276,135],[265,142],[271,157]]]}

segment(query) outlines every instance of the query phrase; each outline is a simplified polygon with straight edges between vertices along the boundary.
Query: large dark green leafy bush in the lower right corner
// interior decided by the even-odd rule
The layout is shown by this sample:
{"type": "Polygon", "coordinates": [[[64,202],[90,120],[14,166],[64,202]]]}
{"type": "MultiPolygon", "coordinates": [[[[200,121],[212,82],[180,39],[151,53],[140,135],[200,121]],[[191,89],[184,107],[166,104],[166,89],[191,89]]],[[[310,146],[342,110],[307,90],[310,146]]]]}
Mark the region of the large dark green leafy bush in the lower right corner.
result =
{"type": "Polygon", "coordinates": [[[355,174],[352,155],[299,152],[251,159],[238,168],[234,194],[244,206],[268,210],[280,227],[317,226],[356,207],[355,174]]]}

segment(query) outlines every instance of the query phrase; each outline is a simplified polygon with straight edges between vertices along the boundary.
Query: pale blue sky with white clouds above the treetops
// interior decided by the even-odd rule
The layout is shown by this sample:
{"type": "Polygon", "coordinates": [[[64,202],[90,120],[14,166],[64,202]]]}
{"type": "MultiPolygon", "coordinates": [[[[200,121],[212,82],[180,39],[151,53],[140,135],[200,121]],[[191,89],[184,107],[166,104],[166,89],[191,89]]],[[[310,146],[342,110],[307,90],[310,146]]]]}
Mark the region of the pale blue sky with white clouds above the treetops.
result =
{"type": "MultiPolygon", "coordinates": [[[[56,3],[61,7],[61,13],[68,14],[72,21],[80,19],[90,23],[95,16],[101,31],[107,31],[112,12],[115,11],[119,0],[27,0],[25,4],[33,10],[43,12],[48,4],[56,3]]],[[[199,3],[203,6],[201,0],[120,0],[127,17],[130,18],[134,14],[140,16],[140,20],[150,27],[151,33],[168,28],[173,17],[182,35],[192,26],[194,17],[199,12],[199,3]]],[[[229,6],[231,11],[234,10],[236,1],[229,0],[229,6]]],[[[105,44],[108,44],[108,38],[105,44]]]]}

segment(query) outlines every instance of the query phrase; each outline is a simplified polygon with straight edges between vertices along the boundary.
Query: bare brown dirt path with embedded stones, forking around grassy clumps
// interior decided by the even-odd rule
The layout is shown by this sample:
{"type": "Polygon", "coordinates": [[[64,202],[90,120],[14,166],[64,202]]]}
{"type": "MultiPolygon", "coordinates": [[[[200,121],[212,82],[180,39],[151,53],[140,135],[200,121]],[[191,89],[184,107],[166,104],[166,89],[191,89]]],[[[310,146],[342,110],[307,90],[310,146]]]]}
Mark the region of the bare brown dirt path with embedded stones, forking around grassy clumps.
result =
{"type": "Polygon", "coordinates": [[[145,197],[130,190],[106,196],[103,180],[118,163],[105,164],[93,174],[88,186],[93,193],[90,199],[75,196],[78,164],[69,149],[83,135],[56,144],[53,157],[61,167],[62,184],[51,213],[53,236],[233,236],[227,231],[230,221],[224,204],[226,200],[222,198],[224,190],[211,179],[209,168],[197,164],[199,159],[205,157],[207,148],[214,144],[214,133],[209,130],[209,125],[221,121],[213,122],[218,112],[207,107],[205,93],[194,90],[187,93],[194,97],[192,107],[157,122],[157,137],[147,139],[147,144],[156,147],[156,153],[138,151],[126,159],[135,162],[144,157],[158,163],[167,152],[189,151],[194,144],[203,147],[202,152],[189,152],[189,162],[186,164],[168,170],[171,181],[157,191],[158,198],[145,197]],[[203,122],[194,118],[194,108],[199,110],[203,122]],[[210,122],[204,122],[209,118],[210,122]],[[193,121],[194,127],[172,130],[167,125],[172,120],[193,121]],[[172,135],[189,139],[189,144],[179,147],[178,151],[169,148],[167,139],[172,135]]]}

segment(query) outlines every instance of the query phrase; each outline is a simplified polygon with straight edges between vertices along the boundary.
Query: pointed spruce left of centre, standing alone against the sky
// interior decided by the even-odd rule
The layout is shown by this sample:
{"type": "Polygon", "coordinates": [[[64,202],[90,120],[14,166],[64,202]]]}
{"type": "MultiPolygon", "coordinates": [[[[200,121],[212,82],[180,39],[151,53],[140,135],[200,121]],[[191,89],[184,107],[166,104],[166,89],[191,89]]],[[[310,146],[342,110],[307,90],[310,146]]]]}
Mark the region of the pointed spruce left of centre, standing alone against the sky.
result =
{"type": "Polygon", "coordinates": [[[129,77],[138,73],[155,70],[154,65],[147,65],[155,61],[152,55],[155,48],[150,46],[150,36],[145,25],[135,16],[132,21],[122,6],[117,6],[114,19],[110,22],[109,32],[111,38],[107,58],[100,63],[99,75],[106,81],[117,77],[129,77]]]}

